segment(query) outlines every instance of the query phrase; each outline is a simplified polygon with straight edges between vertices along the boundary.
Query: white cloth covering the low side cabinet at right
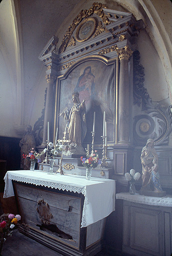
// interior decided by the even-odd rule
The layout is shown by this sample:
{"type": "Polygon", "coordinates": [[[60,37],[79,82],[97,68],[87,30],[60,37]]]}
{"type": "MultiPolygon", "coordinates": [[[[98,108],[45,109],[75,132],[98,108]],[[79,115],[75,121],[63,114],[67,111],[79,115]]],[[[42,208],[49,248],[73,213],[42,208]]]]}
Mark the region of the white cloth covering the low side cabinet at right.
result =
{"type": "Polygon", "coordinates": [[[141,194],[130,194],[130,193],[118,193],[116,194],[117,199],[123,199],[126,201],[143,203],[148,205],[166,206],[172,207],[172,195],[166,195],[163,197],[147,196],[141,194]]]}

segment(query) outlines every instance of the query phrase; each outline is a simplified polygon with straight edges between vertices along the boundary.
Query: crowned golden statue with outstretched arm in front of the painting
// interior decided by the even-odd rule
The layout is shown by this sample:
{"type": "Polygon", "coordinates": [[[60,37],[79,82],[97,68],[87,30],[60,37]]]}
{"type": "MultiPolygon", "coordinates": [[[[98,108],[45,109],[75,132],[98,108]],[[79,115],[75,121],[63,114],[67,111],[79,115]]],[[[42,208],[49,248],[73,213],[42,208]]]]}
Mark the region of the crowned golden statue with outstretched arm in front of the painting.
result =
{"type": "Polygon", "coordinates": [[[84,148],[82,147],[82,142],[86,135],[86,119],[85,119],[85,99],[80,103],[79,93],[72,93],[73,106],[60,113],[59,116],[63,116],[68,122],[68,134],[69,142],[67,150],[74,154],[83,154],[85,153],[84,148]]]}

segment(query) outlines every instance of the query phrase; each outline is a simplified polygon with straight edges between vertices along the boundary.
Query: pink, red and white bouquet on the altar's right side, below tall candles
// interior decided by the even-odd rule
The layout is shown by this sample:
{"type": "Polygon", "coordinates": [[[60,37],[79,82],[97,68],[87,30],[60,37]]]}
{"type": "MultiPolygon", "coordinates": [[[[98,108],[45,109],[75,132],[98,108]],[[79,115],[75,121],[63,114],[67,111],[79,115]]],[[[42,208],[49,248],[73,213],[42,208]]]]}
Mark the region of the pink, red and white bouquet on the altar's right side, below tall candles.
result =
{"type": "Polygon", "coordinates": [[[98,164],[101,164],[101,160],[99,159],[97,150],[91,152],[91,154],[89,155],[89,152],[86,149],[86,156],[87,158],[81,156],[82,165],[84,165],[86,168],[95,168],[98,164]]]}

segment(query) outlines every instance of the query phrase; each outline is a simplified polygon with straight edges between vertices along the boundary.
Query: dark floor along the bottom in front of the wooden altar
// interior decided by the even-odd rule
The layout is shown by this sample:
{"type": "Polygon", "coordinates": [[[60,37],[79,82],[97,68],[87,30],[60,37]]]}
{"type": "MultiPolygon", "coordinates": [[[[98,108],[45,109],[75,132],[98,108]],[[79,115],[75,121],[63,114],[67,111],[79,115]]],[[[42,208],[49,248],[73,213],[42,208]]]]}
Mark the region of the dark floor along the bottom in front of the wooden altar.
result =
{"type": "MultiPolygon", "coordinates": [[[[2,247],[2,256],[63,256],[43,244],[19,233],[15,230],[12,236],[8,236],[2,247]]],[[[111,254],[112,255],[112,254],[111,254]]],[[[104,251],[96,256],[110,256],[104,251]]],[[[115,255],[112,255],[115,256],[115,255]]],[[[119,255],[118,255],[119,256],[119,255]]]]}

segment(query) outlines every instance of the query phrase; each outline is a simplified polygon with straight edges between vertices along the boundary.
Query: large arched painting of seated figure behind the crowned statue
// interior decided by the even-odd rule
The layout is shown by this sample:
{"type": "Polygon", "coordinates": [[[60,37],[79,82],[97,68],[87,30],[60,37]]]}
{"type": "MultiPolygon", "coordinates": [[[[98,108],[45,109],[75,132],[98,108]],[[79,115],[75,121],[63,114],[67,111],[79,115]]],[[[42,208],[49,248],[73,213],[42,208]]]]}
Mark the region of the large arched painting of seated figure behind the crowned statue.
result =
{"type": "MultiPolygon", "coordinates": [[[[58,127],[58,138],[63,138],[63,132],[68,127],[67,121],[59,113],[69,109],[72,105],[72,93],[79,92],[79,99],[85,99],[87,133],[83,144],[91,143],[93,115],[95,112],[95,137],[98,145],[102,143],[103,113],[106,112],[107,141],[115,142],[116,119],[116,91],[117,91],[117,63],[116,59],[107,63],[99,59],[89,59],[73,65],[67,75],[57,77],[55,127],[58,127]]],[[[66,130],[67,131],[67,130],[66,130]]],[[[67,137],[66,137],[67,139],[67,137]]]]}

